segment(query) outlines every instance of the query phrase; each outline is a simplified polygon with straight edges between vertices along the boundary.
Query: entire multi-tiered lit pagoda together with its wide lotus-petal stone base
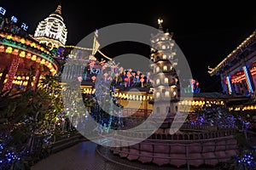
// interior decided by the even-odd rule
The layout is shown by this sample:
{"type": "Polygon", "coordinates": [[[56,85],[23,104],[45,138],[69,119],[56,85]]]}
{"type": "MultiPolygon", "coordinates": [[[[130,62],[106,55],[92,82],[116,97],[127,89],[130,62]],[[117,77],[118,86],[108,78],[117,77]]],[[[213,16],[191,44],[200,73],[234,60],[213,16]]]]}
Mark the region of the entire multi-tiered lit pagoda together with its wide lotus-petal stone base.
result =
{"type": "MultiPolygon", "coordinates": [[[[158,21],[159,32],[151,38],[151,59],[154,62],[154,111],[151,114],[155,118],[150,123],[158,122],[162,116],[166,116],[166,119],[142,142],[122,147],[113,146],[110,150],[114,155],[129,161],[158,166],[216,166],[219,162],[230,160],[237,152],[236,139],[233,137],[236,131],[232,128],[218,129],[207,125],[194,126],[182,123],[177,132],[172,132],[172,124],[178,126],[179,118],[183,116],[178,107],[182,106],[178,104],[184,103],[185,100],[179,99],[180,85],[173,68],[177,65],[177,59],[172,34],[163,31],[163,20],[158,21]],[[178,120],[173,120],[176,117],[178,120]]],[[[115,142],[131,143],[135,139],[147,136],[147,133],[148,127],[139,131],[119,132],[119,138],[115,142]],[[124,137],[125,141],[122,141],[124,137]]]]}

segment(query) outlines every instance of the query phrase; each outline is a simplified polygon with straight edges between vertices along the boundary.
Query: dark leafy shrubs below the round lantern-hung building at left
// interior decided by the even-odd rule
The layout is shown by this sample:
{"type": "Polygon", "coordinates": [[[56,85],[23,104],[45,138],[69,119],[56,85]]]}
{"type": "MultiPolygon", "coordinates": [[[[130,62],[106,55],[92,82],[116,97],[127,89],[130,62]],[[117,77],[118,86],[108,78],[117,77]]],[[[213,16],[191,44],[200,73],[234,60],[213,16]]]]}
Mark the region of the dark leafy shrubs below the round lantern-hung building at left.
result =
{"type": "Polygon", "coordinates": [[[14,169],[27,169],[49,155],[57,116],[63,111],[57,77],[47,75],[41,84],[36,91],[29,88],[0,95],[0,144],[4,144],[5,151],[15,150],[22,155],[20,161],[10,165],[14,169]]]}

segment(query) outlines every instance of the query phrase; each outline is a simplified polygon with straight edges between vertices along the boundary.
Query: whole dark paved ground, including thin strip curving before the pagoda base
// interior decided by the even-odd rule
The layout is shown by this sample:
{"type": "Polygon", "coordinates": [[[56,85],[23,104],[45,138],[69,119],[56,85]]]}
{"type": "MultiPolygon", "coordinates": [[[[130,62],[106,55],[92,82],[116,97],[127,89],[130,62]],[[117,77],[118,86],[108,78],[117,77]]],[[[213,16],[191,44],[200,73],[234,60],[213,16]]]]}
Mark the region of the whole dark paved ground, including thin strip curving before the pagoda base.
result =
{"type": "MultiPolygon", "coordinates": [[[[105,147],[99,147],[91,141],[75,144],[66,150],[61,150],[32,167],[32,170],[185,170],[187,167],[158,167],[143,165],[137,161],[128,161],[119,156],[113,156],[105,147]],[[100,153],[100,154],[99,154],[100,153]]],[[[190,168],[190,170],[212,170],[216,168],[190,168]]]]}

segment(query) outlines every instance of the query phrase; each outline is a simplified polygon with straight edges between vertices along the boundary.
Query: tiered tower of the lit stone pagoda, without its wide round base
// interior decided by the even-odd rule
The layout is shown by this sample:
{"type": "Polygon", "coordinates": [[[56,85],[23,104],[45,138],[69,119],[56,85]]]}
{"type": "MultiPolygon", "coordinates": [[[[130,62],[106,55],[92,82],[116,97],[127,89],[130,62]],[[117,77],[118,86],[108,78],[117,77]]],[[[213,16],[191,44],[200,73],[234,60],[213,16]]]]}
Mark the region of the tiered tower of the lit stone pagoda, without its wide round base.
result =
{"type": "Polygon", "coordinates": [[[159,19],[159,31],[151,37],[150,59],[154,70],[154,111],[155,114],[177,112],[178,78],[175,71],[177,59],[172,34],[164,31],[163,20],[159,19]]]}

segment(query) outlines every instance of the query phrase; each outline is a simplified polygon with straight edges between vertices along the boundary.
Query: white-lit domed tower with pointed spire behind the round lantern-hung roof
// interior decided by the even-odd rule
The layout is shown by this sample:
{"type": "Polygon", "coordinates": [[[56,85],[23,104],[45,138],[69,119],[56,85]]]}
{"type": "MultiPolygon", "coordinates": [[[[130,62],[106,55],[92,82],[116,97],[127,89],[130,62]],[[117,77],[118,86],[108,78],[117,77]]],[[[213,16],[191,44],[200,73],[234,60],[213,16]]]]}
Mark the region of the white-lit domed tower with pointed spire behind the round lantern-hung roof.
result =
{"type": "Polygon", "coordinates": [[[61,15],[61,4],[55,12],[40,21],[34,38],[40,43],[46,44],[50,49],[64,47],[67,41],[67,28],[61,15]]]}

